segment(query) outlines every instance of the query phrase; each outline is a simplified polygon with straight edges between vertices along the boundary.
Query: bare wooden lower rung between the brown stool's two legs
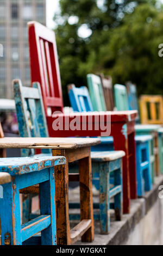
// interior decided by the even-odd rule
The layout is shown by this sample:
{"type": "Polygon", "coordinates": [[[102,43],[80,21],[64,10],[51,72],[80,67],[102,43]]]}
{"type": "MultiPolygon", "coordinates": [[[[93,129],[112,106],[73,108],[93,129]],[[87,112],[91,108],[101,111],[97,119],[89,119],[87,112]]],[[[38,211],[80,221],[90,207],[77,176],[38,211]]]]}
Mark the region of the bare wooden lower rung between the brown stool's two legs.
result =
{"type": "Polygon", "coordinates": [[[91,227],[91,220],[83,220],[71,230],[71,243],[76,242],[91,227]]]}

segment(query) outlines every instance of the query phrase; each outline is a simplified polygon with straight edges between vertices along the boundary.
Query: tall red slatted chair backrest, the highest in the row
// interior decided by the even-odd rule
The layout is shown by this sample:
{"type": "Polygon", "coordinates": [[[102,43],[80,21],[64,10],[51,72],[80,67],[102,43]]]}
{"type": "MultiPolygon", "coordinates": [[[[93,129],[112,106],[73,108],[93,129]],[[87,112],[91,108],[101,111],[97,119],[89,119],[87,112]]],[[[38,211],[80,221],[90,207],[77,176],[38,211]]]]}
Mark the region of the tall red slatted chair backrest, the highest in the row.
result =
{"type": "Polygon", "coordinates": [[[39,82],[46,116],[63,112],[62,89],[55,34],[38,22],[28,22],[31,80],[39,82]]]}

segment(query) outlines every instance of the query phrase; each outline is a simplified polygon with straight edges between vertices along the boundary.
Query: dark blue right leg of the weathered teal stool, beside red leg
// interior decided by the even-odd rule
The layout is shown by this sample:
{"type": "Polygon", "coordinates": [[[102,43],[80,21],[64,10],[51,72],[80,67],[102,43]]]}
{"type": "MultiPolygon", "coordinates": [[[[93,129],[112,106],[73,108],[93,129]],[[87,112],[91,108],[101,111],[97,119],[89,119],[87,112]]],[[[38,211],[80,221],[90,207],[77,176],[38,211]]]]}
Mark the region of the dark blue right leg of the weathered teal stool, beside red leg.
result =
{"type": "MultiPolygon", "coordinates": [[[[122,164],[121,164],[122,166],[122,164]]],[[[122,186],[122,167],[114,171],[114,186],[122,186]]],[[[122,188],[123,190],[123,188],[122,188]]],[[[114,197],[114,209],[116,221],[121,221],[123,214],[123,193],[116,194],[114,197]]]]}

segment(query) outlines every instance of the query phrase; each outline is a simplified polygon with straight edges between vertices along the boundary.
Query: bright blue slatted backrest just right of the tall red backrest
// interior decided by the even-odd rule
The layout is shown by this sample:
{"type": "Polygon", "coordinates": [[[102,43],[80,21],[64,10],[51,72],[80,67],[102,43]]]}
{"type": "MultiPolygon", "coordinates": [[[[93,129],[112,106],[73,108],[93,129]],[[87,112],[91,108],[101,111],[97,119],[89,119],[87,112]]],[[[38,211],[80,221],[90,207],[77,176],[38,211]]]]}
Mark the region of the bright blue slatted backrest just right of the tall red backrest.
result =
{"type": "Polygon", "coordinates": [[[85,86],[77,88],[74,84],[69,84],[68,95],[73,111],[87,112],[93,111],[92,102],[90,99],[89,91],[85,86]]]}

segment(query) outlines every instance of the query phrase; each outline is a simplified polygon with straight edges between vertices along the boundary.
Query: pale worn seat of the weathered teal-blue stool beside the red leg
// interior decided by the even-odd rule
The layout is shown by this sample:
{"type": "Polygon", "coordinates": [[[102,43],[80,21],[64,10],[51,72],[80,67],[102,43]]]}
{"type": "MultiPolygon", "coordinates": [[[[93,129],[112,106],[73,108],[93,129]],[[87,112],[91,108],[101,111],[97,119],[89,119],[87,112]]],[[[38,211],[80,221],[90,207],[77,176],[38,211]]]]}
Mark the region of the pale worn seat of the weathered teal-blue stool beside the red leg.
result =
{"type": "Polygon", "coordinates": [[[125,156],[124,151],[94,151],[91,152],[91,159],[95,162],[107,162],[120,159],[125,156]]]}

